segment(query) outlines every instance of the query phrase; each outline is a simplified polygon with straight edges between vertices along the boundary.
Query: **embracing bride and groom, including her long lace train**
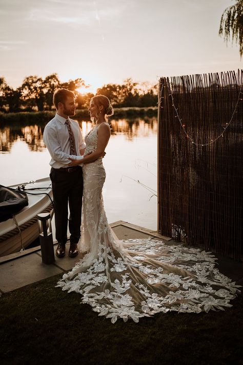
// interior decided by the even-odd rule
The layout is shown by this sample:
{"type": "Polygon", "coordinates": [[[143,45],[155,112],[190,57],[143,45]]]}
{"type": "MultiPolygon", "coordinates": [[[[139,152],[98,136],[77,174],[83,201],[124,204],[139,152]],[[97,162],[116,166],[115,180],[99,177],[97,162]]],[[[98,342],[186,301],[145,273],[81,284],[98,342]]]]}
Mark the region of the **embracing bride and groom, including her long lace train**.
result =
{"type": "Polygon", "coordinates": [[[113,233],[102,198],[102,160],[110,138],[107,121],[113,114],[109,99],[91,99],[94,126],[85,140],[78,123],[69,118],[75,115],[73,92],[57,90],[53,103],[57,112],[43,139],[51,155],[56,255],[65,256],[68,222],[69,256],[78,254],[79,238],[85,254],[57,286],[81,294],[83,303],[112,323],[117,318],[138,322],[155,313],[200,313],[231,306],[239,290],[218,272],[210,253],[150,239],[122,242],[113,233]]]}

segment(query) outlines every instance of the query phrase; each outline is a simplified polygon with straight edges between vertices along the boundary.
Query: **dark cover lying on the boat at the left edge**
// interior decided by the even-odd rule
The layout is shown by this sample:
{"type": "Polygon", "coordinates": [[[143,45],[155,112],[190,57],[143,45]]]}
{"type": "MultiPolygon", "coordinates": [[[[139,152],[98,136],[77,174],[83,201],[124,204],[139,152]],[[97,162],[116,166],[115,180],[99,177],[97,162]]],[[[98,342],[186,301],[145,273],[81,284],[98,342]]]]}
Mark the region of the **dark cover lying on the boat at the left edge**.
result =
{"type": "Polygon", "coordinates": [[[12,218],[28,204],[28,197],[24,191],[0,185],[0,222],[12,218]]]}

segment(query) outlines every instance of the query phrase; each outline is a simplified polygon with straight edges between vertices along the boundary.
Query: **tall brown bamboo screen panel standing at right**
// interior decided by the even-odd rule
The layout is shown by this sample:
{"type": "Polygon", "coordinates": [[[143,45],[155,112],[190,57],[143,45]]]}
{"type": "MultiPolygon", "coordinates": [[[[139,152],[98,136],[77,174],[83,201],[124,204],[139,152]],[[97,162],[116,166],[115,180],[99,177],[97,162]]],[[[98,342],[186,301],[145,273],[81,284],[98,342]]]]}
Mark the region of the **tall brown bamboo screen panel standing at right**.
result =
{"type": "Polygon", "coordinates": [[[240,260],[243,71],[161,78],[158,231],[240,260]]]}

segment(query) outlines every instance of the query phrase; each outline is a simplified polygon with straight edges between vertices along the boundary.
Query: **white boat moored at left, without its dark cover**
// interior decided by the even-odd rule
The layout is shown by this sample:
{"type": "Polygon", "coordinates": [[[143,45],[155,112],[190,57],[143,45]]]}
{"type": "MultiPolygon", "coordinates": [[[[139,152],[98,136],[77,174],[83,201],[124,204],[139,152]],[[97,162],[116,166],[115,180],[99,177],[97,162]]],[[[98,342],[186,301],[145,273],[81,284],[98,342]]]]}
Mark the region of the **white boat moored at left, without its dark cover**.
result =
{"type": "Polygon", "coordinates": [[[50,178],[9,187],[24,187],[29,204],[13,218],[0,222],[0,257],[20,251],[38,237],[37,214],[51,212],[53,215],[50,178]]]}

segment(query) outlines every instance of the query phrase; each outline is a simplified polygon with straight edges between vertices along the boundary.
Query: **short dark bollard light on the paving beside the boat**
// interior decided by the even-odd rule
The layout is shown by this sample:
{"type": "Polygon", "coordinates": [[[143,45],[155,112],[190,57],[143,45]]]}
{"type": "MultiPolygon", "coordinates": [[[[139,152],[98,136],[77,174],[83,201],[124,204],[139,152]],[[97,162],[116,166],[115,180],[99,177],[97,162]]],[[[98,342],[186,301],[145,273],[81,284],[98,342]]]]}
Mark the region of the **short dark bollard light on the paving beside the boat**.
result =
{"type": "Polygon", "coordinates": [[[51,230],[51,215],[50,213],[40,213],[37,215],[37,218],[42,262],[45,264],[51,264],[55,261],[51,230]]]}

